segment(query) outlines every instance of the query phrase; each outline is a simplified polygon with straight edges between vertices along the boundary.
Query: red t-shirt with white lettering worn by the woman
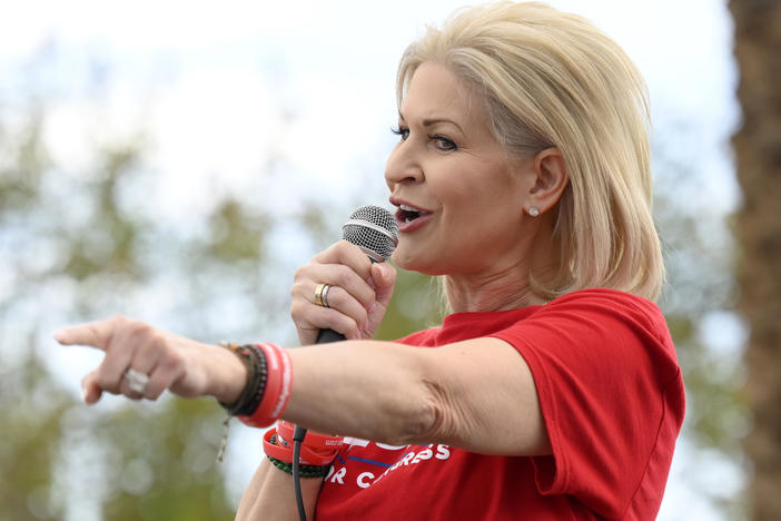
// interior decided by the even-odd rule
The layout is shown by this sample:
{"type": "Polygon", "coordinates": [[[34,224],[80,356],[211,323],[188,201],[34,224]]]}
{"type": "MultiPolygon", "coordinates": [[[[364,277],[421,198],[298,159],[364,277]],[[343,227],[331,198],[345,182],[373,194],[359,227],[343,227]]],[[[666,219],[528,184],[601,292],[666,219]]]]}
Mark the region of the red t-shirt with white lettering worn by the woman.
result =
{"type": "Polygon", "coordinates": [[[508,342],[531,367],[553,455],[347,439],[318,521],[654,519],[684,412],[659,307],[584,289],[544,306],[456,313],[399,342],[436,347],[482,336],[508,342]]]}

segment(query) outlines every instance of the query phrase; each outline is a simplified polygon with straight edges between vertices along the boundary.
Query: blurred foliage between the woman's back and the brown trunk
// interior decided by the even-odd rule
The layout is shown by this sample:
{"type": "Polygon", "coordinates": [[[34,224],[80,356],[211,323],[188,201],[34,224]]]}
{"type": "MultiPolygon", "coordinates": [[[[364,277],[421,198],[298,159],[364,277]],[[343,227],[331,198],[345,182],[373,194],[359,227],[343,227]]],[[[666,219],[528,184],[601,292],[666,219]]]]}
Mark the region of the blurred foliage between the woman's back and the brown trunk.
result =
{"type": "Polygon", "coordinates": [[[711,173],[698,170],[690,147],[678,139],[686,135],[685,129],[670,124],[665,128],[673,131],[654,150],[654,217],[669,278],[660,306],[683,371],[686,416],[682,436],[689,442],[686,461],[694,462],[679,472],[690,489],[710,500],[721,519],[742,520],[740,483],[728,479],[713,486],[712,478],[702,472],[719,462],[721,469],[731,466],[728,476],[733,478],[745,465],[740,441],[750,421],[741,394],[745,326],[734,311],[736,247],[730,216],[714,201],[698,197],[711,173]]]}

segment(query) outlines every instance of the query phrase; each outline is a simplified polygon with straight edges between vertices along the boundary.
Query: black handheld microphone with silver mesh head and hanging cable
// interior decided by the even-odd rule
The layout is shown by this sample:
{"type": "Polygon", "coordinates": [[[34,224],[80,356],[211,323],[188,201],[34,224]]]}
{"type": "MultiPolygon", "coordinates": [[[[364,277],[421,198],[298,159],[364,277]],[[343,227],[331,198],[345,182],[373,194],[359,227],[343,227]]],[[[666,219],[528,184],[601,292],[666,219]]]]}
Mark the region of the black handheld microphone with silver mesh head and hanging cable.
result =
{"type": "MultiPolygon", "coordinates": [[[[358,246],[373,263],[383,263],[398,243],[398,224],[390,212],[379,206],[362,206],[349,216],[342,227],[342,238],[358,246]]],[[[334,330],[320,330],[317,344],[328,344],[345,340],[345,335],[334,330]]],[[[306,521],[300,483],[300,452],[306,438],[306,429],[296,426],[293,433],[293,489],[296,494],[298,519],[306,521]]]]}

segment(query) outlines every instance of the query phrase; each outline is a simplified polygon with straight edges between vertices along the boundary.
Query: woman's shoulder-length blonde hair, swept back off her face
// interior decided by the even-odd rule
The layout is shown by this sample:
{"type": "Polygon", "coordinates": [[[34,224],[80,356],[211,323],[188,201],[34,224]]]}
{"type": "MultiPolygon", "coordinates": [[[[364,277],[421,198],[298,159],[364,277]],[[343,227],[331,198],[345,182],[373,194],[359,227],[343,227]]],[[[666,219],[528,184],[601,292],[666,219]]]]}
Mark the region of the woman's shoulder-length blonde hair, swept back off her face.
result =
{"type": "Polygon", "coordinates": [[[561,260],[545,279],[532,274],[532,289],[547,299],[586,287],[655,299],[664,266],[651,216],[647,92],[624,51],[579,16],[500,2],[456,11],[407,48],[399,107],[426,61],[483,95],[508,156],[555,146],[564,157],[570,185],[553,234],[561,260]]]}

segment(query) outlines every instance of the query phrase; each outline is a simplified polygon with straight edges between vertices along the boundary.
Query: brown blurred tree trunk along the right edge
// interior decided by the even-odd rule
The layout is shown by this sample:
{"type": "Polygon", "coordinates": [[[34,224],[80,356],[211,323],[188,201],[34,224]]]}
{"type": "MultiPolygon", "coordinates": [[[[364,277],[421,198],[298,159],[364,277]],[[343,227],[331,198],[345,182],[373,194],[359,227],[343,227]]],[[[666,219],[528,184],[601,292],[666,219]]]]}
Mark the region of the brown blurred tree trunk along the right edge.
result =
{"type": "Polygon", "coordinates": [[[743,189],[740,309],[750,327],[745,394],[753,423],[752,519],[781,519],[781,3],[732,0],[743,126],[733,138],[743,189]]]}

